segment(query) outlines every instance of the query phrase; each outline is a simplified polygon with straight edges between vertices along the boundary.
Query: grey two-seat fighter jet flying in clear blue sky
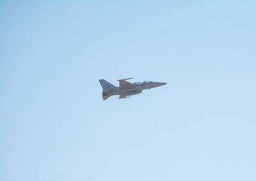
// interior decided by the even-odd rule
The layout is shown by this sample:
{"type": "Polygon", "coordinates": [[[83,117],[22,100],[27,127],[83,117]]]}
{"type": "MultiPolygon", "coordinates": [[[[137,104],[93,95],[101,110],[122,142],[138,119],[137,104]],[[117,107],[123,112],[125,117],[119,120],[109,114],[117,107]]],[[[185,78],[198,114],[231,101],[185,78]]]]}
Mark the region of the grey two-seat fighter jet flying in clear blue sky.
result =
{"type": "Polygon", "coordinates": [[[130,98],[127,96],[133,96],[136,94],[142,93],[144,89],[151,89],[154,87],[159,87],[161,85],[165,85],[164,82],[127,82],[131,78],[125,78],[117,80],[119,82],[119,87],[112,85],[104,79],[100,79],[100,85],[103,89],[102,98],[103,100],[108,99],[110,96],[119,95],[119,99],[130,98]]]}

